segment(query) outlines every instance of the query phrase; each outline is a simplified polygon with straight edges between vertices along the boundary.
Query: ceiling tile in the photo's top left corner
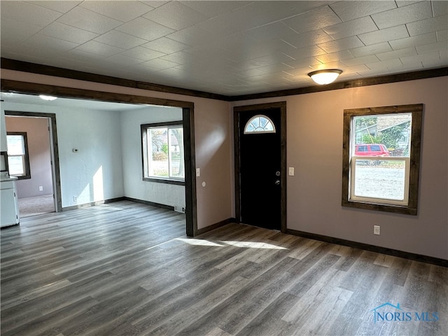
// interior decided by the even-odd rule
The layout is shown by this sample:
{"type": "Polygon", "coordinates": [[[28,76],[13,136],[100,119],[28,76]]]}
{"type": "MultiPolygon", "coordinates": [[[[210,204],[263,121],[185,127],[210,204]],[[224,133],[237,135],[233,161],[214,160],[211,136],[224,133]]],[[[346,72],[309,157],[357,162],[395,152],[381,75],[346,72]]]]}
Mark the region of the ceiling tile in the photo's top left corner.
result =
{"type": "Polygon", "coordinates": [[[55,10],[23,1],[0,1],[0,6],[2,16],[41,27],[50,25],[62,15],[55,10]]]}

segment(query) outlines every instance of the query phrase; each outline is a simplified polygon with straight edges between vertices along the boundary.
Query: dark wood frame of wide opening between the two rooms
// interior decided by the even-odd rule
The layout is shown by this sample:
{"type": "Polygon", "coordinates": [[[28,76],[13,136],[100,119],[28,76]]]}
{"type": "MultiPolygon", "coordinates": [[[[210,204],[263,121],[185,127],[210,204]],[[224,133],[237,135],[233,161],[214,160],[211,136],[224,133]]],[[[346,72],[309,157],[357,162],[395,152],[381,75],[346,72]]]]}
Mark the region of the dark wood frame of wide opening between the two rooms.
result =
{"type": "Polygon", "coordinates": [[[100,102],[180,107],[182,109],[183,116],[183,146],[185,150],[186,235],[190,237],[199,235],[197,230],[196,174],[194,174],[196,172],[196,161],[194,118],[195,104],[193,102],[182,102],[172,99],[153,98],[132,94],[84,90],[74,87],[20,82],[18,80],[8,79],[1,79],[1,90],[22,94],[48,94],[55,97],[89,99],[100,102]]]}

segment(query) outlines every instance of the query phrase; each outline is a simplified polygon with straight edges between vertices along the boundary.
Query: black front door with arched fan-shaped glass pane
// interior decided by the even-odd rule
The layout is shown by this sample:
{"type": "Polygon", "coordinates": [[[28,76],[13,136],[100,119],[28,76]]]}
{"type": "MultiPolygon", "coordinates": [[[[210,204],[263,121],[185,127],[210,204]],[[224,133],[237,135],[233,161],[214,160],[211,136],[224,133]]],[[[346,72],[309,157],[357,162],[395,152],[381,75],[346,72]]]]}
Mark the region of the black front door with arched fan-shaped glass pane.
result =
{"type": "Polygon", "coordinates": [[[269,108],[236,111],[235,115],[239,125],[239,220],[273,230],[281,230],[284,221],[281,114],[281,108],[269,108]]]}

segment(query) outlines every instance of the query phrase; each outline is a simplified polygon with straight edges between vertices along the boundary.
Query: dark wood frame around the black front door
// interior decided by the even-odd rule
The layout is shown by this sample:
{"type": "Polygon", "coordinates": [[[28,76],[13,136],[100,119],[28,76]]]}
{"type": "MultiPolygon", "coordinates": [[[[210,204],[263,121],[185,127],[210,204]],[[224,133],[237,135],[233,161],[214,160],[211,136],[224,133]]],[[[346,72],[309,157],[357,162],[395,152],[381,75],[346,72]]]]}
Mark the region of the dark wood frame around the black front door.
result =
{"type": "MultiPolygon", "coordinates": [[[[286,102],[274,102],[266,104],[255,104],[246,106],[235,106],[233,108],[233,134],[235,139],[235,217],[241,223],[241,182],[239,161],[239,113],[248,111],[262,111],[269,109],[280,109],[280,151],[281,151],[281,232],[286,233],[286,102]]],[[[244,127],[244,125],[242,125],[244,127]]]]}

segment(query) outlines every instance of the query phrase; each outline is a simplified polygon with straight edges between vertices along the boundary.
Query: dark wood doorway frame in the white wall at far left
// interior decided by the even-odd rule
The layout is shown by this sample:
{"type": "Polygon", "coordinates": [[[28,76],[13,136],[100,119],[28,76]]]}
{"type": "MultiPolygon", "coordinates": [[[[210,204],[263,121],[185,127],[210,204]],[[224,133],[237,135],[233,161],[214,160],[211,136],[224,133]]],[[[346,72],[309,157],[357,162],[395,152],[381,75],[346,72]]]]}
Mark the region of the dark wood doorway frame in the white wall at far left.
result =
{"type": "Polygon", "coordinates": [[[15,116],[24,118],[45,118],[48,120],[50,127],[50,160],[51,160],[51,177],[53,187],[53,197],[55,203],[55,212],[62,211],[62,193],[61,193],[61,176],[59,174],[59,148],[57,145],[57,127],[55,113],[40,112],[22,112],[22,111],[5,111],[5,116],[15,116]]]}

